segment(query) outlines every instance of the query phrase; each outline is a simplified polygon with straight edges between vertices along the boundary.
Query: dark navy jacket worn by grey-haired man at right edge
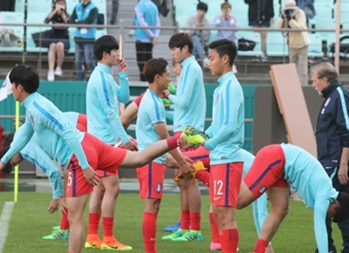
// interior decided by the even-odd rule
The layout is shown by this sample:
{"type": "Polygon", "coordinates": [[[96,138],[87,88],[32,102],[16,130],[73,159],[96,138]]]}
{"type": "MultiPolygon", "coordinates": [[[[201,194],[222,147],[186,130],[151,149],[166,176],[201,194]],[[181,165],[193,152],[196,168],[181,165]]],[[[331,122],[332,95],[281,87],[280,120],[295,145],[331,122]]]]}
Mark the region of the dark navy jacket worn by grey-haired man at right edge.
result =
{"type": "Polygon", "coordinates": [[[318,161],[324,167],[337,167],[343,147],[349,147],[349,91],[333,81],[322,94],[325,100],[316,125],[318,161]]]}

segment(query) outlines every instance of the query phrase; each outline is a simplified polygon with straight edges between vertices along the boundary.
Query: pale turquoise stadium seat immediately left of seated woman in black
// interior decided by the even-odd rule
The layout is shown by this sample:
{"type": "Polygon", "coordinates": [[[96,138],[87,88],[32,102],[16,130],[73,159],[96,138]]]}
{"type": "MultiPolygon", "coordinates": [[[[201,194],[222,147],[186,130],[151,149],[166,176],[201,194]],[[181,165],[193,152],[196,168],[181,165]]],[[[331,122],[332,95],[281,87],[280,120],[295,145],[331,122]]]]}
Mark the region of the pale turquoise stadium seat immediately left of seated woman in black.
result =
{"type": "MultiPolygon", "coordinates": [[[[40,24],[44,23],[44,20],[48,14],[47,13],[35,13],[35,12],[28,12],[27,15],[27,23],[28,24],[40,24]]],[[[32,33],[38,33],[43,32],[44,30],[50,30],[50,27],[43,27],[43,26],[27,26],[27,39],[26,39],[26,45],[27,45],[27,52],[48,52],[48,48],[45,47],[36,47],[32,33]]]]}

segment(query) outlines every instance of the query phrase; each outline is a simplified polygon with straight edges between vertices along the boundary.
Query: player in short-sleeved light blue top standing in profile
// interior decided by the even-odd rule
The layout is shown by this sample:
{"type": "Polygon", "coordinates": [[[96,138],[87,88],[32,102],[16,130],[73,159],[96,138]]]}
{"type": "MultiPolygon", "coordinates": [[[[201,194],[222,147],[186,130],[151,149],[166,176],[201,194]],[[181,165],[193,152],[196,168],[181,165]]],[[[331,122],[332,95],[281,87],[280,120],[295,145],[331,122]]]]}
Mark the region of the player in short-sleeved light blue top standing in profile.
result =
{"type": "MultiPolygon", "coordinates": [[[[162,92],[170,83],[170,72],[167,61],[163,58],[148,60],[143,74],[148,80],[149,87],[140,102],[135,133],[139,150],[153,144],[157,140],[169,137],[166,126],[165,106],[161,101],[162,92]]],[[[187,159],[176,150],[170,152],[179,163],[179,167],[192,169],[187,159]]],[[[165,155],[157,157],[149,164],[137,169],[140,183],[140,198],[145,201],[143,215],[143,242],[146,253],[156,253],[156,220],[162,198],[163,181],[165,176],[165,155]]]]}

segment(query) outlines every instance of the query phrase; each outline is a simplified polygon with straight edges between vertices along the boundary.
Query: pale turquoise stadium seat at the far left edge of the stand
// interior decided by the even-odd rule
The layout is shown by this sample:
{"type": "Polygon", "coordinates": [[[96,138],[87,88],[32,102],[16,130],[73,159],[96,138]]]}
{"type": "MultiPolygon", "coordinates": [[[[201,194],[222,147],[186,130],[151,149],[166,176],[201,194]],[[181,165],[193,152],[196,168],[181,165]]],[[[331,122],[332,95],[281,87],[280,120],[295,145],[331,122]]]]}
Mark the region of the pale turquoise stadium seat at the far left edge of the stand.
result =
{"type": "Polygon", "coordinates": [[[23,38],[24,27],[23,26],[5,26],[6,23],[24,23],[24,13],[14,11],[1,11],[1,20],[3,29],[11,29],[22,40],[21,47],[0,47],[0,52],[23,52],[23,38]]]}

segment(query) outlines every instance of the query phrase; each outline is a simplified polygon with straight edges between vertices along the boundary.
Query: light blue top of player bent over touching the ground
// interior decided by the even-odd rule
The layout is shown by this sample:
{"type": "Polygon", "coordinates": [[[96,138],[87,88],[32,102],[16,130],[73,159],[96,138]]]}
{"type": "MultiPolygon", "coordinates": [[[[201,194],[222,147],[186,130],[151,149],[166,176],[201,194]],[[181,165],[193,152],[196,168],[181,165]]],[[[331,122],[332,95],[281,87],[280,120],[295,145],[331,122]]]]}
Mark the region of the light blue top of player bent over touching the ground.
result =
{"type": "Polygon", "coordinates": [[[284,150],[284,179],[298,196],[304,199],[306,208],[314,208],[314,230],[319,253],[328,253],[326,213],[328,206],[338,197],[332,181],[320,162],[309,152],[292,144],[281,145],[284,150]]]}

